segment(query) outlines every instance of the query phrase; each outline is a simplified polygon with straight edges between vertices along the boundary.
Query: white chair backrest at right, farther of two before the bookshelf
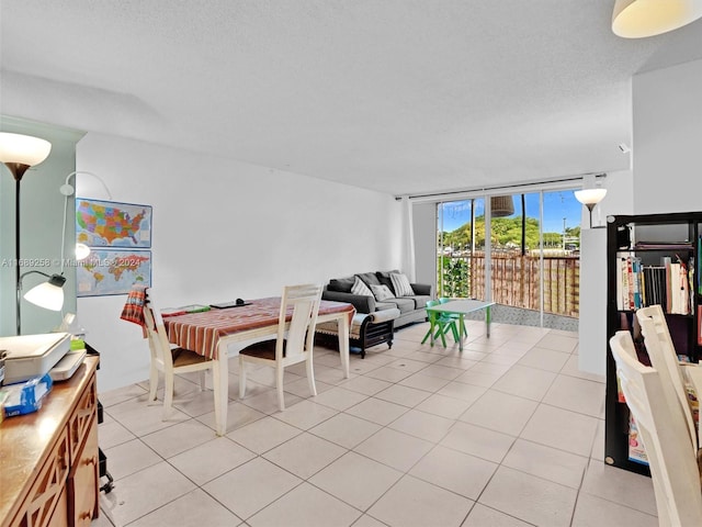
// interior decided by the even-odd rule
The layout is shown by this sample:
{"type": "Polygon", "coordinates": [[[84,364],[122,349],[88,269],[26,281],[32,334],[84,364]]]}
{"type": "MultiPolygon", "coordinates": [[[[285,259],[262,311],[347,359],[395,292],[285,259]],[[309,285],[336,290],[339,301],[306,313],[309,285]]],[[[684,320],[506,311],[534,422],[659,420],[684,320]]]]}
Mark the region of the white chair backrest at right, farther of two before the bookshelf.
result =
{"type": "Polygon", "coordinates": [[[692,410],[688,402],[688,392],[684,388],[684,380],[678,355],[670,338],[668,323],[660,305],[642,307],[636,312],[636,318],[644,336],[646,351],[650,358],[650,363],[658,371],[663,381],[666,400],[670,408],[679,408],[688,426],[688,434],[693,450],[698,449],[698,434],[692,421],[692,410]]]}

